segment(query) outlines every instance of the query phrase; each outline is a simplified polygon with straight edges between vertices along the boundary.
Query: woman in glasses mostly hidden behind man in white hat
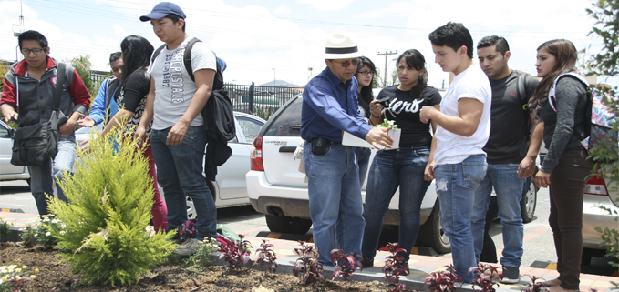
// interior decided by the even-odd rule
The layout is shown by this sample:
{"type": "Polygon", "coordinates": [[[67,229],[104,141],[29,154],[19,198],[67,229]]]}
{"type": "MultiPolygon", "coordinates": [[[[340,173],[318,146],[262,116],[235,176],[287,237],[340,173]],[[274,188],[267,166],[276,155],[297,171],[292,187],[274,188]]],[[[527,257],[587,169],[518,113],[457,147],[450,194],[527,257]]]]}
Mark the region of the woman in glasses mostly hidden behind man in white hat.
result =
{"type": "MultiPolygon", "coordinates": [[[[372,93],[372,83],[374,82],[374,74],[377,72],[377,67],[366,56],[360,56],[361,63],[356,67],[356,81],[359,83],[359,111],[361,116],[364,116],[367,121],[370,118],[370,103],[374,100],[372,93]]],[[[367,166],[370,161],[370,148],[355,148],[356,163],[359,165],[359,185],[363,186],[366,181],[367,166]]]]}

